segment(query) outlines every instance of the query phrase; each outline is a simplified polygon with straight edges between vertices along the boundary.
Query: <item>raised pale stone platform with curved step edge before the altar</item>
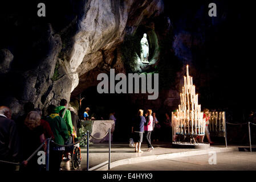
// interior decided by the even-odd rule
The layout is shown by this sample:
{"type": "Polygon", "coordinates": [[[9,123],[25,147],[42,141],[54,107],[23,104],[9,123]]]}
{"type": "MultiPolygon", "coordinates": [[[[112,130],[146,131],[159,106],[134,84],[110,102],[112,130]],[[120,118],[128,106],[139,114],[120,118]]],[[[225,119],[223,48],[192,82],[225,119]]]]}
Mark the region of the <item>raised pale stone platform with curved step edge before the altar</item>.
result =
{"type": "MultiPolygon", "coordinates": [[[[191,148],[172,148],[170,143],[152,143],[155,150],[147,151],[147,144],[142,144],[143,153],[136,153],[134,148],[128,146],[128,143],[112,143],[111,144],[111,168],[124,164],[135,164],[142,162],[150,162],[162,159],[173,159],[192,155],[208,155],[209,152],[229,152],[238,151],[238,147],[228,146],[211,146],[205,149],[191,148]]],[[[87,170],[87,149],[82,148],[82,166],[78,169],[87,170]]],[[[89,152],[90,170],[102,171],[108,170],[108,143],[95,143],[90,145],[89,152]]],[[[72,170],[71,161],[62,162],[63,170],[72,170]]],[[[121,170],[121,169],[120,169],[121,170]]]]}

